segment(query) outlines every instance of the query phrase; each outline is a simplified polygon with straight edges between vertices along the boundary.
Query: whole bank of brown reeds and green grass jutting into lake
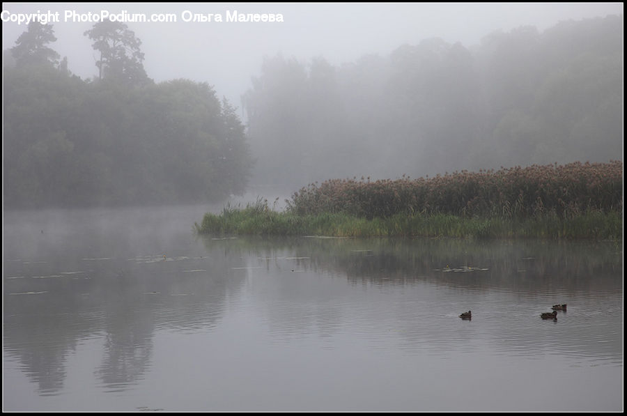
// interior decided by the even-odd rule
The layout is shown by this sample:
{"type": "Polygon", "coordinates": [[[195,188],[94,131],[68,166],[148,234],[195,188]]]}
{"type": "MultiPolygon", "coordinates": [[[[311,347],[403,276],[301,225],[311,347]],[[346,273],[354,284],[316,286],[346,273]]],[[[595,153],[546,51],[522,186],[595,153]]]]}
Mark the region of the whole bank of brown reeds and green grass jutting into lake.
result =
{"type": "Polygon", "coordinates": [[[258,200],[206,214],[199,233],[621,240],[623,163],[571,163],[434,178],[327,180],[285,212],[258,200]]]}

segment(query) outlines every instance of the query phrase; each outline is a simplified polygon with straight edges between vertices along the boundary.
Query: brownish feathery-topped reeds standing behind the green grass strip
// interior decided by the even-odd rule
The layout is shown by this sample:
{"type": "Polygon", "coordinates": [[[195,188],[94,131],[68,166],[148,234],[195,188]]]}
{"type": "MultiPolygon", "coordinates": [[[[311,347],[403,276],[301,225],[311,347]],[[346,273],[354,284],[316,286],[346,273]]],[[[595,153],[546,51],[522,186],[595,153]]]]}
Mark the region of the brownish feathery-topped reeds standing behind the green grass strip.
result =
{"type": "Polygon", "coordinates": [[[621,212],[622,197],[623,162],[612,161],[374,182],[333,179],[303,187],[286,202],[288,210],[298,215],[343,212],[372,219],[421,213],[511,219],[621,212]]]}

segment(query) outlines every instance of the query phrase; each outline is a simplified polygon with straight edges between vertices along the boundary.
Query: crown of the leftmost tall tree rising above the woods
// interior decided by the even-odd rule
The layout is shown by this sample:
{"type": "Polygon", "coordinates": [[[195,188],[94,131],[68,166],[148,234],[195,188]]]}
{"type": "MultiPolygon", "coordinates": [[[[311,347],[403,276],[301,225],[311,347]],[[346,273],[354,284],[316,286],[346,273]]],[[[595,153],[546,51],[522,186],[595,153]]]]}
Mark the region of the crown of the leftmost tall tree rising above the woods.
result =
{"type": "Polygon", "coordinates": [[[11,48],[17,66],[24,65],[56,65],[59,54],[47,47],[56,41],[52,24],[30,22],[29,29],[22,33],[11,48]]]}

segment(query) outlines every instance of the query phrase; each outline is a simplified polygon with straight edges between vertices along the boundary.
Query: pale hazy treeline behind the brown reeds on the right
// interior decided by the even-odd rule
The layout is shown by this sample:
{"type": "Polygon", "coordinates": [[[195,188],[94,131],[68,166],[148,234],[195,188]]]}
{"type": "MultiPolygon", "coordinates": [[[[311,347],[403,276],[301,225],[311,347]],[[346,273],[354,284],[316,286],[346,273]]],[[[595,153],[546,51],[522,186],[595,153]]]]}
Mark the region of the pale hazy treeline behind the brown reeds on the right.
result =
{"type": "Polygon", "coordinates": [[[332,66],[275,56],[244,96],[256,182],[401,178],[622,155],[623,16],[434,38],[332,66]]]}

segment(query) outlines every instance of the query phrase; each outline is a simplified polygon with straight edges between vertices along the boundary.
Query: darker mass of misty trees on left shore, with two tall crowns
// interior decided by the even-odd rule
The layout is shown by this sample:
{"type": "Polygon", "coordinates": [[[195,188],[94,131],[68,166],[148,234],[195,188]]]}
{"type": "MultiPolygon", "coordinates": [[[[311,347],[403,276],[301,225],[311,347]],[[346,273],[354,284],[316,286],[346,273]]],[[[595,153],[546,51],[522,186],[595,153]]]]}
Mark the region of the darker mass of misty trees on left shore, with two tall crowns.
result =
{"type": "Polygon", "coordinates": [[[155,84],[123,24],[96,24],[86,35],[101,52],[93,80],[58,62],[47,25],[29,25],[5,52],[4,205],[193,203],[243,193],[252,161],[229,102],[208,84],[155,84]]]}

